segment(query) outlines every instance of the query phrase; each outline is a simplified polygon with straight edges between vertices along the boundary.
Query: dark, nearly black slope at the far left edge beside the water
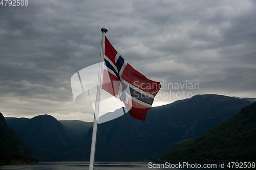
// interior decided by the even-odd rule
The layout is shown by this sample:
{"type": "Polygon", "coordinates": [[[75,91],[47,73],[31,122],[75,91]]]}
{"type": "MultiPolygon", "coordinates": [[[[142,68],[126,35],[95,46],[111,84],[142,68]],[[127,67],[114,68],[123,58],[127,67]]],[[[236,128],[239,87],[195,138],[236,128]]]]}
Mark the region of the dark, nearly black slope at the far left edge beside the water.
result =
{"type": "Polygon", "coordinates": [[[38,162],[26,143],[5,122],[0,113],[0,164],[38,162]]]}

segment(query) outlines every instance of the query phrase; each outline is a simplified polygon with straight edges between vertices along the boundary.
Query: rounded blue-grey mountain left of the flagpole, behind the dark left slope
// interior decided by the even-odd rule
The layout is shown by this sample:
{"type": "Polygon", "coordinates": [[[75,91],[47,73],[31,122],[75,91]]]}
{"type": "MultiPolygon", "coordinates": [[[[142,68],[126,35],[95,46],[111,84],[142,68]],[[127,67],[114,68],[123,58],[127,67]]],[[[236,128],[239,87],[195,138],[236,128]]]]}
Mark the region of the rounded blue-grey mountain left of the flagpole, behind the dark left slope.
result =
{"type": "Polygon", "coordinates": [[[40,161],[53,161],[55,155],[70,151],[78,144],[57,119],[47,114],[31,119],[9,118],[7,123],[40,161]]]}

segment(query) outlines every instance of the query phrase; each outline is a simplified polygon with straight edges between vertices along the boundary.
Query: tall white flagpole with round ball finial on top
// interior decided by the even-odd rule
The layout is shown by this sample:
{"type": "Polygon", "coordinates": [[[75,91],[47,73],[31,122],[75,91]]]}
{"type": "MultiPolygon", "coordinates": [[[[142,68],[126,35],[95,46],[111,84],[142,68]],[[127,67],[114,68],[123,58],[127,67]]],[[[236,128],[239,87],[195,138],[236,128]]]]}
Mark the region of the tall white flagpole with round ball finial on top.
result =
{"type": "Polygon", "coordinates": [[[102,76],[103,76],[103,61],[104,61],[104,47],[105,47],[105,33],[108,32],[106,26],[101,28],[102,39],[101,39],[101,50],[100,50],[100,66],[99,66],[99,75],[98,75],[98,86],[95,102],[95,112],[94,112],[94,122],[93,122],[93,135],[92,135],[92,145],[91,145],[91,155],[90,155],[90,164],[89,170],[94,168],[94,158],[95,158],[95,149],[96,149],[96,138],[97,138],[97,128],[98,128],[98,114],[99,114],[99,102],[100,102],[100,92],[102,88],[102,76]],[[96,117],[97,116],[97,117],[96,117]]]}

